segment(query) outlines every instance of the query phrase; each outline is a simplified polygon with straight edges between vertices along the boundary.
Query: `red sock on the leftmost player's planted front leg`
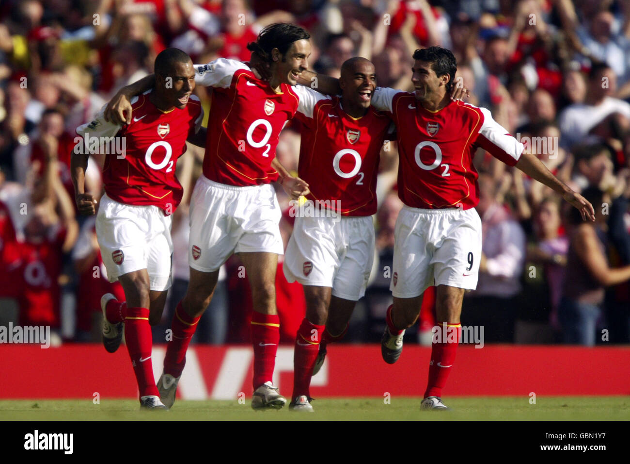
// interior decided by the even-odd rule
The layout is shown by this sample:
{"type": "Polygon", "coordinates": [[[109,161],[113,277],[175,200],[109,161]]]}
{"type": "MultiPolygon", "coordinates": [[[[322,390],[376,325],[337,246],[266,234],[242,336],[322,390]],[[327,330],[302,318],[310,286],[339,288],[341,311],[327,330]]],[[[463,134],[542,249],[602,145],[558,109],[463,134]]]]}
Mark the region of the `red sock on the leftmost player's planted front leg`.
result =
{"type": "Polygon", "coordinates": [[[125,317],[125,342],[134,367],[135,379],[138,382],[140,396],[156,395],[157,387],[153,378],[151,364],[151,326],[149,326],[149,309],[146,307],[128,307],[125,317]]]}

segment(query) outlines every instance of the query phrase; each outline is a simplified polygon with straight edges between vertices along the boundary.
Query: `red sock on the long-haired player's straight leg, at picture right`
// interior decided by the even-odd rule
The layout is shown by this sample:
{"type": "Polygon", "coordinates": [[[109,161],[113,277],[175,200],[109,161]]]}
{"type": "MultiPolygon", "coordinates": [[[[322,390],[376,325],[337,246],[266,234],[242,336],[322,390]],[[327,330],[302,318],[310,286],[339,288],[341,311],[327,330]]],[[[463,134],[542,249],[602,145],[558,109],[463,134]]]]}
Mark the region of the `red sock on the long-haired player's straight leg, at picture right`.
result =
{"type": "Polygon", "coordinates": [[[251,314],[251,343],[254,346],[254,390],[273,379],[275,355],[280,342],[278,314],[251,314]]]}

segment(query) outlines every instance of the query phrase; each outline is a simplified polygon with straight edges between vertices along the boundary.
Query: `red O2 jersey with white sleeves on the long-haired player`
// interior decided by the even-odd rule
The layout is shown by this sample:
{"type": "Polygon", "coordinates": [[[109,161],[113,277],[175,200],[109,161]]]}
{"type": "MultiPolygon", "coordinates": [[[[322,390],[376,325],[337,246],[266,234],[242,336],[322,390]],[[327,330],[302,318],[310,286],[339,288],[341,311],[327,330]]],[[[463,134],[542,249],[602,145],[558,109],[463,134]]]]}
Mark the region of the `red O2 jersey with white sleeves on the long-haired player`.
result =
{"type": "Polygon", "coordinates": [[[212,86],[203,175],[231,186],[268,184],[280,131],[299,105],[300,86],[275,93],[243,62],[219,58],[195,64],[199,85],[212,86]]]}

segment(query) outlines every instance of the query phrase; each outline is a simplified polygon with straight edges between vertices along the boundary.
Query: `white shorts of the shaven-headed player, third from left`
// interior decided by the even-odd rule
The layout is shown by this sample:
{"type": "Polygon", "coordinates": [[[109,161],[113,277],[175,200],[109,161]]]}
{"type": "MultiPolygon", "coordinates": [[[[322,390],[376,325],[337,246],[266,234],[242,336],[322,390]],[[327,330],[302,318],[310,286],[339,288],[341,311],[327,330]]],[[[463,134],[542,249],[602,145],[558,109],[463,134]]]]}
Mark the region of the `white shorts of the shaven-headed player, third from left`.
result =
{"type": "Polygon", "coordinates": [[[289,282],[332,287],[334,296],[357,301],[373,261],[371,216],[296,217],[283,269],[289,282]]]}

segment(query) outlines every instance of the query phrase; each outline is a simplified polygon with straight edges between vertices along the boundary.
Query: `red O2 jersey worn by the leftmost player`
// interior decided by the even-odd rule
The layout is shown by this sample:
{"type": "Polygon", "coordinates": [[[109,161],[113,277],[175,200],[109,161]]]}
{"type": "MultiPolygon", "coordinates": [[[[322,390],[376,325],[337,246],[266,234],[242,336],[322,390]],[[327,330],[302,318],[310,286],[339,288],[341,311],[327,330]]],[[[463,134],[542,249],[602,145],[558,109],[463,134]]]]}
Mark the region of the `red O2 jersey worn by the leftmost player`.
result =
{"type": "Polygon", "coordinates": [[[115,136],[106,145],[105,193],[118,203],[158,206],[168,215],[183,194],[175,177],[177,159],[186,152],[188,135],[199,130],[203,110],[199,99],[191,95],[185,108],[163,112],[149,101],[150,93],[132,98],[132,121],[122,128],[106,122],[103,110],[94,121],[79,126],[77,134],[84,140],[75,150],[93,150],[98,146],[94,140],[115,136]],[[124,152],[119,154],[120,150],[124,152]]]}

